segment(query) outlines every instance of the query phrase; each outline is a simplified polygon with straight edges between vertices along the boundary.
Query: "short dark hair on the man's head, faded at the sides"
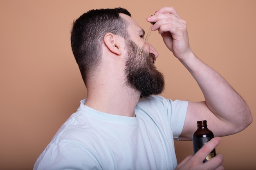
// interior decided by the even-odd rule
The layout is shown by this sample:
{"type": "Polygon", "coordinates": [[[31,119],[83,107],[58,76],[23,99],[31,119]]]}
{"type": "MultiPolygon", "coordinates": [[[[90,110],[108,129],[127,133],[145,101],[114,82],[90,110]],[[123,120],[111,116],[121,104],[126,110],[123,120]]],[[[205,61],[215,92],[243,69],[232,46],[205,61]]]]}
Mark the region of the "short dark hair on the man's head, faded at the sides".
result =
{"type": "Polygon", "coordinates": [[[92,76],[101,61],[101,44],[106,33],[129,38],[127,22],[119,13],[131,16],[123,8],[96,9],[84,13],[73,22],[71,47],[84,82],[88,76],[92,76]]]}

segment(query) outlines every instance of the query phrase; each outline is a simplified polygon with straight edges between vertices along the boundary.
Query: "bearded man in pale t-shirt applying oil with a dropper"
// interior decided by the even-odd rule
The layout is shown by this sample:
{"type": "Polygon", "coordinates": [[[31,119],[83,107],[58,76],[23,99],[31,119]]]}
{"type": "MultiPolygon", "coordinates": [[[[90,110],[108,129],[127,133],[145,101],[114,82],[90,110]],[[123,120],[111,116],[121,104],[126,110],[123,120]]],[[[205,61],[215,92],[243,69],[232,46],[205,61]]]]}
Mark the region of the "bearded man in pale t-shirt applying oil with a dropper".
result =
{"type": "Polygon", "coordinates": [[[165,99],[157,51],[123,8],[91,10],[73,24],[71,45],[87,88],[76,113],[38,157],[34,170],[222,170],[223,157],[205,157],[220,136],[252,122],[246,102],[191,50],[186,22],[172,7],[147,18],[167,48],[195,78],[204,102],[165,99]],[[143,47],[143,53],[140,53],[143,47]],[[179,165],[174,140],[191,140],[198,120],[218,137],[179,165]],[[214,126],[213,126],[214,125],[214,126]]]}

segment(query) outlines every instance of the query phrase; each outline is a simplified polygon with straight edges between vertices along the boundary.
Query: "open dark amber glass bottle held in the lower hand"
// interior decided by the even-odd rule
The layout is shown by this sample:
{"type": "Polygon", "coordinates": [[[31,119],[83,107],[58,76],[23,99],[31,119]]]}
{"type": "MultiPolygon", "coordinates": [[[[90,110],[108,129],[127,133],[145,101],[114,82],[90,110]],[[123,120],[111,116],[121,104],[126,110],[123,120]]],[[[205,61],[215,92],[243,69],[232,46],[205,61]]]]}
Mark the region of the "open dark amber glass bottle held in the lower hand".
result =
{"type": "MultiPolygon", "coordinates": [[[[204,144],[206,144],[208,141],[210,141],[214,137],[213,132],[207,128],[206,120],[197,121],[197,124],[198,124],[198,129],[195,130],[192,137],[194,154],[200,148],[202,148],[204,144]]],[[[214,150],[204,159],[203,162],[206,162],[207,160],[215,157],[215,155],[216,155],[216,152],[214,148],[214,150]]]]}

